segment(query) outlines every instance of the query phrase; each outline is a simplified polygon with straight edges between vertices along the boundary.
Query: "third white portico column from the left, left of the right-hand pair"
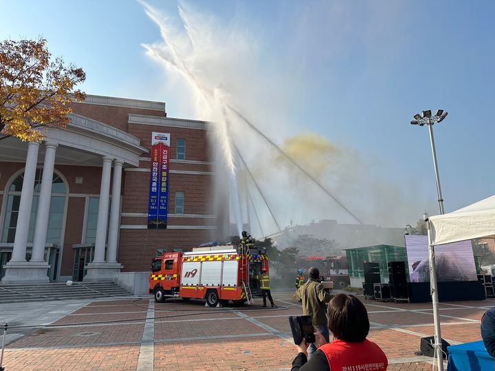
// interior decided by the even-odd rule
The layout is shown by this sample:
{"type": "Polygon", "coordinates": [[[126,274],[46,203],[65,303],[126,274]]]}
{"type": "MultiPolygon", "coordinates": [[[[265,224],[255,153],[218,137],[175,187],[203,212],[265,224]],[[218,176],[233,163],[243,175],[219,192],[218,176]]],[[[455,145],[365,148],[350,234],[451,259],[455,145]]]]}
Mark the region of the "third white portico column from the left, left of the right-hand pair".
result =
{"type": "Polygon", "coordinates": [[[100,186],[100,204],[98,207],[98,225],[96,227],[95,253],[93,262],[104,262],[104,248],[107,240],[108,204],[110,196],[111,157],[103,157],[102,180],[100,186]]]}

